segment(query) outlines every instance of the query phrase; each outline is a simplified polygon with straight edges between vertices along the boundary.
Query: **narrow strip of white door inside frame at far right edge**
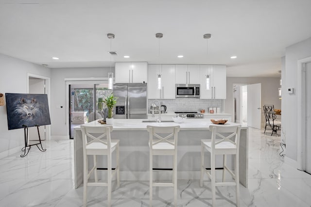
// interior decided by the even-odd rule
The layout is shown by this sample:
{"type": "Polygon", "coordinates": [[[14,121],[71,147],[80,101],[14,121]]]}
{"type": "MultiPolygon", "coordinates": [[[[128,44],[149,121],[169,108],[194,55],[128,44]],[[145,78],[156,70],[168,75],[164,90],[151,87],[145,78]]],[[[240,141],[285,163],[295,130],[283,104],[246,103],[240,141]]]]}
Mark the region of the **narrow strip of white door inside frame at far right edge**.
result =
{"type": "Polygon", "coordinates": [[[311,173],[311,63],[306,64],[306,171],[311,173]]]}

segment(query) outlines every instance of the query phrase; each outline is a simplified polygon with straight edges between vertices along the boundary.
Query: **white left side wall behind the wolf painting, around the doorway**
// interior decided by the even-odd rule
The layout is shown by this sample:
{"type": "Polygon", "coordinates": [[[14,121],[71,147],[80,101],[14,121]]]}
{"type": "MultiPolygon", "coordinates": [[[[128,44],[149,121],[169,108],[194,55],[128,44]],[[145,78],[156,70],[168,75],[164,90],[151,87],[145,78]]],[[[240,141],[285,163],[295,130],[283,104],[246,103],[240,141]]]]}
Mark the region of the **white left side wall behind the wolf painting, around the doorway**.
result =
{"type": "MultiPolygon", "coordinates": [[[[0,54],[0,93],[27,93],[27,73],[51,77],[51,69],[0,54]]],[[[20,151],[23,129],[8,130],[6,105],[0,106],[0,157],[20,151]]]]}

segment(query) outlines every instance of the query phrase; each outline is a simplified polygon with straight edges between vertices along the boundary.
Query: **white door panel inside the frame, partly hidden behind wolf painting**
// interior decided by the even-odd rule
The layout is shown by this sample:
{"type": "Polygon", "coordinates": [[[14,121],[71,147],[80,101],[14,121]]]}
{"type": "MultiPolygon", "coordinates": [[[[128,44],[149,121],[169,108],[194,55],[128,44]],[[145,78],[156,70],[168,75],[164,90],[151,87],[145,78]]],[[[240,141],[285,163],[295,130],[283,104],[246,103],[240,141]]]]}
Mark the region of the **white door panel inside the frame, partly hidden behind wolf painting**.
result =
{"type": "MultiPolygon", "coordinates": [[[[29,79],[29,94],[45,94],[44,79],[29,79]]],[[[39,127],[40,139],[45,140],[45,126],[39,127]]],[[[37,127],[28,129],[29,140],[39,140],[37,127]]]]}

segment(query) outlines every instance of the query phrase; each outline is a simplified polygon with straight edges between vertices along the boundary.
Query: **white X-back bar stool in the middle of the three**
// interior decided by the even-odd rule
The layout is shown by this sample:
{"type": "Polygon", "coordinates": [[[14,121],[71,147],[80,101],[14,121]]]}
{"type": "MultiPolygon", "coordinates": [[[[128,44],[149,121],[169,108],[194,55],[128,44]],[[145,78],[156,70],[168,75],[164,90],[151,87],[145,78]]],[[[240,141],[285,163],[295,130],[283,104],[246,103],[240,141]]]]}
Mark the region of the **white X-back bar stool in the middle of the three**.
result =
{"type": "Polygon", "coordinates": [[[150,152],[150,186],[149,186],[149,205],[152,206],[152,188],[154,186],[164,186],[174,188],[174,205],[177,206],[177,139],[179,126],[155,127],[147,126],[149,132],[149,152],[150,152]],[[164,135],[164,136],[163,136],[164,135]],[[153,181],[153,156],[171,155],[173,156],[173,179],[172,183],[160,183],[153,181]]]}

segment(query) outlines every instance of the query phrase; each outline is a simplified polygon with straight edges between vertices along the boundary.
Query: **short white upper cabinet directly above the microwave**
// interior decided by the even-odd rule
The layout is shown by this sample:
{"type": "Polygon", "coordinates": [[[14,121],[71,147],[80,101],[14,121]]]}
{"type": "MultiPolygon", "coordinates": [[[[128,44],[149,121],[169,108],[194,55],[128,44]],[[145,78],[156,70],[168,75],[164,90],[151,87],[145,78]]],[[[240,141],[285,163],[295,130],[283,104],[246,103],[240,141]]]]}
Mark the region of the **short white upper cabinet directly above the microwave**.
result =
{"type": "Polygon", "coordinates": [[[197,84],[200,78],[200,65],[198,64],[176,64],[176,84],[197,84]]]}

